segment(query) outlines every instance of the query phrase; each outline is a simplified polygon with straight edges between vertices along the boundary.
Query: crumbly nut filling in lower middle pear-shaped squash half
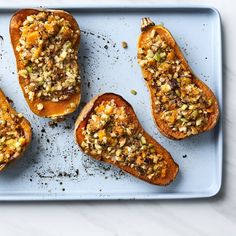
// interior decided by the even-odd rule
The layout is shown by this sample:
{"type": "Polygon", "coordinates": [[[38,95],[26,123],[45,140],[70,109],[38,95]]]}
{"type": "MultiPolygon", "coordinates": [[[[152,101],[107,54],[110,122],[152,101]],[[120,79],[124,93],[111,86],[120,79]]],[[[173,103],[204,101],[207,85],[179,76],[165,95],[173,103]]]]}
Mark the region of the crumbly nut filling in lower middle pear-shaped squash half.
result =
{"type": "Polygon", "coordinates": [[[85,153],[128,166],[149,179],[166,176],[168,164],[163,156],[130,120],[126,108],[114,100],[103,101],[94,109],[82,134],[85,153]]]}

